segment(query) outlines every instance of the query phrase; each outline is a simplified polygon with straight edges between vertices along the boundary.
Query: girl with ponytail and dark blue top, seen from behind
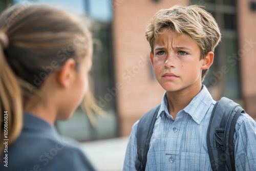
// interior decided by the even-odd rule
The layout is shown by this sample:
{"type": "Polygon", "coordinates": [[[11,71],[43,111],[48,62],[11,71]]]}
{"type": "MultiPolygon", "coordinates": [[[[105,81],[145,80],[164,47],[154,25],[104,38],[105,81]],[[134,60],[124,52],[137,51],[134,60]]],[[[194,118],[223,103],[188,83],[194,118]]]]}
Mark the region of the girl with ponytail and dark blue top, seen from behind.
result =
{"type": "Polygon", "coordinates": [[[15,5],[0,16],[0,170],[94,170],[56,119],[88,91],[92,38],[67,12],[15,5]]]}

